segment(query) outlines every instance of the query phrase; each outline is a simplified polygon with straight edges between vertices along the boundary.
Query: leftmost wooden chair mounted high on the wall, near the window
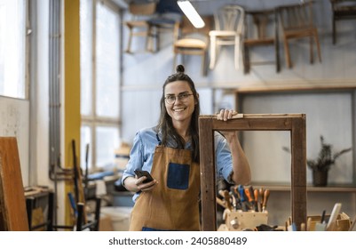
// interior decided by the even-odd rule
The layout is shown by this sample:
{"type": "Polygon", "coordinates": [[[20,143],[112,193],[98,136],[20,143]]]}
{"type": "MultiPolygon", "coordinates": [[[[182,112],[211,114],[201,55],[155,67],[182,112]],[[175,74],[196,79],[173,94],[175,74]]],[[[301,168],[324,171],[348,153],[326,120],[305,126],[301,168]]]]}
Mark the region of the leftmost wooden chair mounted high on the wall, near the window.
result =
{"type": "Polygon", "coordinates": [[[123,24],[129,28],[129,40],[125,52],[132,53],[131,44],[133,36],[142,36],[146,39],[146,51],[150,51],[149,25],[147,20],[154,14],[156,2],[131,2],[129,12],[131,20],[124,21],[123,24]]]}

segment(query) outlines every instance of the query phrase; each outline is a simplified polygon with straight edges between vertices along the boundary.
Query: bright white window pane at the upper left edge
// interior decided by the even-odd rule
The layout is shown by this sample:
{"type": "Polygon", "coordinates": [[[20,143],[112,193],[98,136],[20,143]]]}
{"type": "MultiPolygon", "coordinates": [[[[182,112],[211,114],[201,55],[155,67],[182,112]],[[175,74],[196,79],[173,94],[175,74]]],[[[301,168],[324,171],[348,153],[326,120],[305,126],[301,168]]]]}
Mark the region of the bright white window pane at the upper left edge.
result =
{"type": "Polygon", "coordinates": [[[0,95],[27,98],[25,29],[25,0],[0,0],[0,95]]]}

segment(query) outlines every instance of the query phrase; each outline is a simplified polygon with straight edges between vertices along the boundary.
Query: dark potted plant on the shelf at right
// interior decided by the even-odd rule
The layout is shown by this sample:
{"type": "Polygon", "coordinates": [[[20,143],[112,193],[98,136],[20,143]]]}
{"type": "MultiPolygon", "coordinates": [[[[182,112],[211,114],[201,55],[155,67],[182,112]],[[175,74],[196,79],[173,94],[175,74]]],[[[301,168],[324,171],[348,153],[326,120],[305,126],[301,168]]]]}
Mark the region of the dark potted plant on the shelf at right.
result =
{"type": "Polygon", "coordinates": [[[320,136],[320,145],[319,156],[314,160],[306,160],[306,165],[312,170],[312,184],[315,187],[327,186],[328,170],[331,165],[335,164],[337,157],[340,157],[352,149],[343,149],[332,154],[331,144],[326,143],[322,135],[320,136]]]}

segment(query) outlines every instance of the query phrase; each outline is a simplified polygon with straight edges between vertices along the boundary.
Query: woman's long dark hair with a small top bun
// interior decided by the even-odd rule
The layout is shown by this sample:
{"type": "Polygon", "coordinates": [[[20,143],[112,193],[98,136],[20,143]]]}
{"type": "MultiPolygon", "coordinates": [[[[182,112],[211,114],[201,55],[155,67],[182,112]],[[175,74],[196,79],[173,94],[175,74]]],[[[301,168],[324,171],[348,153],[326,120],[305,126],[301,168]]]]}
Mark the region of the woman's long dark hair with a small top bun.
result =
{"type": "Polygon", "coordinates": [[[162,89],[162,98],[161,98],[161,115],[160,115],[160,120],[158,122],[157,128],[158,130],[161,130],[162,132],[162,145],[167,146],[168,138],[169,136],[176,141],[178,149],[184,149],[185,141],[184,139],[177,133],[176,129],[173,127],[172,123],[172,118],[170,115],[167,113],[167,109],[164,104],[164,98],[165,98],[165,87],[167,84],[170,84],[171,82],[175,81],[186,81],[187,84],[189,84],[190,90],[193,92],[194,96],[194,102],[195,102],[195,107],[194,107],[194,112],[192,114],[192,119],[190,121],[190,130],[189,133],[192,137],[192,156],[193,156],[193,161],[196,163],[199,163],[199,115],[200,115],[200,104],[199,104],[199,98],[198,98],[198,92],[196,92],[195,85],[193,80],[187,76],[184,71],[185,68],[183,65],[178,65],[176,68],[177,73],[168,76],[166,81],[163,84],[163,89],[162,89]]]}

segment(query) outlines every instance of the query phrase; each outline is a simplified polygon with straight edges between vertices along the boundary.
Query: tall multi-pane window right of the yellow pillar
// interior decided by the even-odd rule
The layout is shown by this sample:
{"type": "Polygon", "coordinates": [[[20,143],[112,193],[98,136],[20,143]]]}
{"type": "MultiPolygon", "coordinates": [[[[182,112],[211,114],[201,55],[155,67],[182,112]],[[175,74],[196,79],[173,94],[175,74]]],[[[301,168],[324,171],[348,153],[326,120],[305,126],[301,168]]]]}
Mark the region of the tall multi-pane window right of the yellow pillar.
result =
{"type": "Polygon", "coordinates": [[[81,165],[86,165],[89,144],[92,172],[112,167],[119,147],[121,25],[118,10],[108,1],[81,0],[80,20],[81,165]]]}

